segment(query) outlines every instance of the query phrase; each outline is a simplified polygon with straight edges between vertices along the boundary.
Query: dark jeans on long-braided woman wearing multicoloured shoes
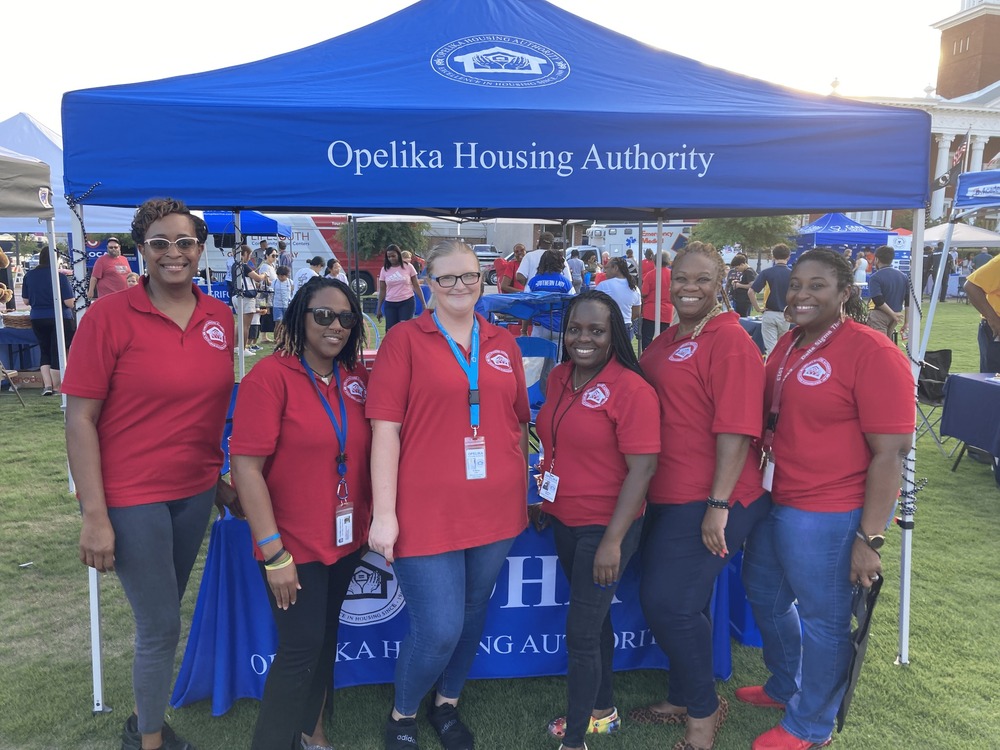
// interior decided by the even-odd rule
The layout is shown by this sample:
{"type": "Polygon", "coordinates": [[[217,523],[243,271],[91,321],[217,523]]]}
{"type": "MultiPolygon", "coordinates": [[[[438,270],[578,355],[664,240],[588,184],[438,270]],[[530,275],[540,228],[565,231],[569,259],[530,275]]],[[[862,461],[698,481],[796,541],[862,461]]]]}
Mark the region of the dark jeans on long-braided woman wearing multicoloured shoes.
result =
{"type": "MultiPolygon", "coordinates": [[[[569,579],[569,611],[566,613],[566,736],[563,744],[583,745],[590,715],[614,706],[612,660],[615,633],[611,626],[611,600],[617,587],[594,583],[594,555],[606,526],[566,526],[552,519],[556,554],[569,579]]],[[[619,570],[639,548],[642,519],[629,527],[621,546],[619,570]]],[[[620,573],[619,573],[620,575],[620,573]]]]}

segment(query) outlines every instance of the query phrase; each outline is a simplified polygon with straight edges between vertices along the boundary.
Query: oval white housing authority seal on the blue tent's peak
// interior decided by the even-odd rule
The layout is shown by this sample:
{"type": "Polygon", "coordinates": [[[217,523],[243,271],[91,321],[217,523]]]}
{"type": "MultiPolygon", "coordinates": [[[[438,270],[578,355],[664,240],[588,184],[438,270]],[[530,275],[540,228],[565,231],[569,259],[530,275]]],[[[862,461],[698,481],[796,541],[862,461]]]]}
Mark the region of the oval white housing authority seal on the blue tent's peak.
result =
{"type": "Polygon", "coordinates": [[[555,50],[506,34],[448,42],[431,55],[431,67],[452,81],[495,88],[551,86],[570,72],[569,62],[555,50]]]}

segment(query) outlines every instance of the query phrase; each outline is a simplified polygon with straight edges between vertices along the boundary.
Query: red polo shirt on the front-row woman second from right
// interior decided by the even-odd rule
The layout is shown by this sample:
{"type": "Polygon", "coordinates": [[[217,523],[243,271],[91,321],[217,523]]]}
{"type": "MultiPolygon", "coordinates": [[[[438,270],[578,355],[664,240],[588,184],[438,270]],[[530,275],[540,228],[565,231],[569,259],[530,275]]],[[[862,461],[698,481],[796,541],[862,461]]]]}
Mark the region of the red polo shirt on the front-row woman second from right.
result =
{"type": "MultiPolygon", "coordinates": [[[[649,484],[649,502],[704,500],[715,477],[720,434],[760,437],[764,363],[736,313],[712,318],[697,338],[668,328],[640,364],[660,397],[663,450],[649,484]]],[[[730,500],[749,505],[764,493],[760,453],[751,447],[730,500]]]]}

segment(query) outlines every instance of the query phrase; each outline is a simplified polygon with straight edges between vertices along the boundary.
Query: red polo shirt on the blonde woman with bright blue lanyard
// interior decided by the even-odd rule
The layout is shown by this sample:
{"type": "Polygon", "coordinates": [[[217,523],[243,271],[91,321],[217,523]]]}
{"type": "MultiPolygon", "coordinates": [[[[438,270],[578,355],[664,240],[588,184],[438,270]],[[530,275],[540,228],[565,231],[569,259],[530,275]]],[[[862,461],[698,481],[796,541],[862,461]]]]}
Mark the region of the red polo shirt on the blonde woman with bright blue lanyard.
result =
{"type": "Polygon", "coordinates": [[[394,326],[375,359],[365,413],[402,425],[396,557],[490,544],[527,525],[520,440],[530,412],[521,353],[507,331],[476,317],[486,479],[465,478],[469,381],[430,313],[394,326]]]}

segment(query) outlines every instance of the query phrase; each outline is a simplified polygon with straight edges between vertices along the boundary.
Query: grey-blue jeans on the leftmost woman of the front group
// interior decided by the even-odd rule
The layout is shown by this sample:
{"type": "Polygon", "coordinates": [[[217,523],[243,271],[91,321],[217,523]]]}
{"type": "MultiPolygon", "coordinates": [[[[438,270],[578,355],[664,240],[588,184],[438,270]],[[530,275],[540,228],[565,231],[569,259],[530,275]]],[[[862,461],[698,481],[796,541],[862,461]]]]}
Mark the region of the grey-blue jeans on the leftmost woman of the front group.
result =
{"type": "Polygon", "coordinates": [[[135,617],[132,692],[143,734],[163,726],[181,633],[181,598],[214,500],[213,484],[181,500],[108,508],[115,572],[135,617]]]}

